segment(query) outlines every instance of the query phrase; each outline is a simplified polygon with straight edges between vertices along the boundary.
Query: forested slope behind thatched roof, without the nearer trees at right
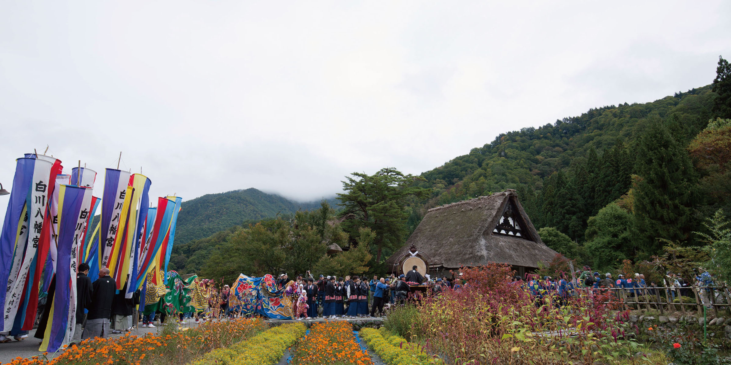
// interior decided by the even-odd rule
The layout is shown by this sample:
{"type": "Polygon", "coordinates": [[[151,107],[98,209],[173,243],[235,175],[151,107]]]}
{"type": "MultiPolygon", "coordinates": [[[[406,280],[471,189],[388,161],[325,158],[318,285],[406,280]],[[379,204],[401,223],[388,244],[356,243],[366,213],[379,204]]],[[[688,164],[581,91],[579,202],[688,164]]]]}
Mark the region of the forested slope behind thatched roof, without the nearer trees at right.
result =
{"type": "Polygon", "coordinates": [[[468,155],[424,172],[426,181],[420,185],[433,190],[425,207],[513,188],[534,225],[557,227],[582,240],[586,220],[629,190],[638,135],[664,120],[687,145],[711,118],[712,102],[708,85],[500,134],[468,155]]]}

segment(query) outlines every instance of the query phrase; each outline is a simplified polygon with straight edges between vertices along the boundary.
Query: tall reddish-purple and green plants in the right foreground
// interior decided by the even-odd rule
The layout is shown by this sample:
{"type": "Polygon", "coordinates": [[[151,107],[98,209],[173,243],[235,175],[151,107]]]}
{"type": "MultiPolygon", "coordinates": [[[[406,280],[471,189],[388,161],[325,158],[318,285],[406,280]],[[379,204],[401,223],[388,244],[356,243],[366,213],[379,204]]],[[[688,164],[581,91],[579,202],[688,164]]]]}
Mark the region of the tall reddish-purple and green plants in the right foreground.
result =
{"type": "Polygon", "coordinates": [[[627,357],[637,346],[623,343],[627,313],[610,312],[616,308],[610,294],[537,296],[529,283],[512,282],[512,270],[503,264],[461,272],[463,288],[421,299],[418,330],[412,330],[427,350],[453,364],[591,364],[627,357]]]}

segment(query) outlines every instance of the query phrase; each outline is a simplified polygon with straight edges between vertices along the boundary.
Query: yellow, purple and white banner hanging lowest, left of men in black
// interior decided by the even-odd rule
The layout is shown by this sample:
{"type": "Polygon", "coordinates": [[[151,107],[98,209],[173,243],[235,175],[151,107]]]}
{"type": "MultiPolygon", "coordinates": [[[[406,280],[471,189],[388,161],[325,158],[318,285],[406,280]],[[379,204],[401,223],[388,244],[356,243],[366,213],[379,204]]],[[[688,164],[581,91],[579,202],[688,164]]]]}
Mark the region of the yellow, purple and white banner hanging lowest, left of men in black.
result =
{"type": "MultiPolygon", "coordinates": [[[[74,244],[78,243],[83,219],[83,201],[91,196],[91,189],[72,185],[61,185],[58,189],[58,255],[56,262],[56,290],[50,308],[49,322],[39,351],[56,352],[67,338],[69,327],[71,332],[75,326],[74,315],[69,316],[69,307],[75,307],[72,301],[76,285],[72,285],[72,277],[76,276],[75,261],[72,257],[74,244]],[[74,264],[74,266],[72,266],[74,264]],[[72,275],[73,272],[73,275],[72,275]]],[[[74,312],[75,314],[75,308],[74,312]]],[[[69,337],[70,338],[70,337],[69,337]]]]}

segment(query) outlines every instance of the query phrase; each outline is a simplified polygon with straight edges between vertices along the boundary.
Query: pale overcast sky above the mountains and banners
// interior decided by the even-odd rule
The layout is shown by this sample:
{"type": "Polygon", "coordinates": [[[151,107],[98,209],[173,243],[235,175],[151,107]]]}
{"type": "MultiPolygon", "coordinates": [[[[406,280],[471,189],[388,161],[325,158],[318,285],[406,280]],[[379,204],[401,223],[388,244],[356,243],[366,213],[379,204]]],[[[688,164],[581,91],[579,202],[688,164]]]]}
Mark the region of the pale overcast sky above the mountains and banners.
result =
{"type": "MultiPolygon", "coordinates": [[[[708,85],[731,1],[0,1],[0,183],[50,145],[151,196],[298,200],[708,85]]],[[[0,216],[7,197],[0,197],[0,216]]],[[[155,201],[154,199],[151,199],[155,201]]]]}

